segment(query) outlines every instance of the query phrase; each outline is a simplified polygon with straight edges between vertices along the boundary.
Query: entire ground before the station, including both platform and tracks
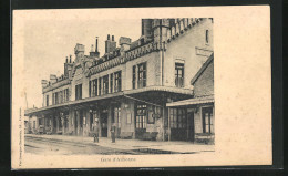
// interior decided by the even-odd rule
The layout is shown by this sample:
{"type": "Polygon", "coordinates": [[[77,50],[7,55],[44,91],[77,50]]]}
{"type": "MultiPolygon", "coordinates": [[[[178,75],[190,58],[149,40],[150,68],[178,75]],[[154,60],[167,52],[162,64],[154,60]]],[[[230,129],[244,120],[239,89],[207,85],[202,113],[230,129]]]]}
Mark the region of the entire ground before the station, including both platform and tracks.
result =
{"type": "Polygon", "coordinates": [[[151,142],[137,139],[100,138],[62,135],[25,135],[25,153],[40,155],[147,155],[147,154],[199,154],[214,152],[213,145],[187,142],[151,142]]]}

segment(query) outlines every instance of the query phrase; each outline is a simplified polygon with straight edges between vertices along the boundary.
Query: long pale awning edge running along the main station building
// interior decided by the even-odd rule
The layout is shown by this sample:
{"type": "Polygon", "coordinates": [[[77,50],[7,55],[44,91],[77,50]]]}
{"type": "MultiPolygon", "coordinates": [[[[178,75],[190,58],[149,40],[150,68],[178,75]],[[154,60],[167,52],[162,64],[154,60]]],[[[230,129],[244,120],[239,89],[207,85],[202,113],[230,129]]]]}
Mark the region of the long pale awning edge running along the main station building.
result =
{"type": "Polygon", "coordinates": [[[124,91],[121,91],[121,92],[109,93],[109,94],[104,94],[104,95],[101,95],[101,96],[86,97],[86,99],[82,99],[82,100],[78,100],[78,101],[71,101],[71,102],[51,105],[51,106],[45,106],[45,107],[41,107],[41,108],[25,110],[24,114],[31,115],[31,114],[34,114],[34,113],[42,113],[44,111],[49,111],[49,110],[53,110],[53,108],[69,107],[71,105],[90,103],[90,102],[94,102],[94,101],[112,99],[112,97],[117,97],[117,96],[123,96],[123,95],[130,95],[130,94],[135,94],[135,93],[142,93],[142,92],[148,92],[148,91],[165,91],[165,92],[172,92],[172,93],[193,95],[193,90],[189,90],[189,89],[167,87],[167,86],[147,86],[147,87],[136,89],[136,90],[124,90],[124,91]]]}

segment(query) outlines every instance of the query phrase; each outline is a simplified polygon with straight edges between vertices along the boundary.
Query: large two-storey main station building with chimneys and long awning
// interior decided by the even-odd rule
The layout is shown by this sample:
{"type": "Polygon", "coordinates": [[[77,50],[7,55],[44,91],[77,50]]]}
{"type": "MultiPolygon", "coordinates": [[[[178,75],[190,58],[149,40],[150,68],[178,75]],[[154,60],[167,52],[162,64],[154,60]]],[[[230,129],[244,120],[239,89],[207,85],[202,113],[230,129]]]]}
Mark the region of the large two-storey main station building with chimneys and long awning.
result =
{"type": "Polygon", "coordinates": [[[97,44],[85,55],[78,43],[64,74],[42,80],[43,106],[25,115],[47,134],[89,136],[97,121],[101,137],[114,124],[122,138],[194,141],[197,118],[176,108],[175,121],[167,103],[202,92],[191,81],[213,54],[213,19],[143,19],[138,40],[121,37],[117,45],[109,34],[102,56],[97,44]]]}

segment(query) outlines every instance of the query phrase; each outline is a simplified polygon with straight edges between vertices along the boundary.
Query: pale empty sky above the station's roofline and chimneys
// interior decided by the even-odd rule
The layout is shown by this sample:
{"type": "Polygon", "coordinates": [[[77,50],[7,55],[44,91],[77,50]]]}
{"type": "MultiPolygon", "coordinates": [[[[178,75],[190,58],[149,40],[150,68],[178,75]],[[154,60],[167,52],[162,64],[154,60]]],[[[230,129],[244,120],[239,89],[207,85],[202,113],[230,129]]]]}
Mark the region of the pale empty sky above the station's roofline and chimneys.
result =
{"type": "Polygon", "coordinates": [[[24,28],[24,84],[28,107],[42,106],[41,80],[49,80],[50,74],[64,73],[65,58],[74,60],[76,43],[85,45],[89,55],[91,44],[95,45],[99,37],[100,54],[104,53],[107,34],[114,35],[119,45],[120,37],[132,41],[141,37],[141,19],[125,20],[25,20],[24,28]]]}

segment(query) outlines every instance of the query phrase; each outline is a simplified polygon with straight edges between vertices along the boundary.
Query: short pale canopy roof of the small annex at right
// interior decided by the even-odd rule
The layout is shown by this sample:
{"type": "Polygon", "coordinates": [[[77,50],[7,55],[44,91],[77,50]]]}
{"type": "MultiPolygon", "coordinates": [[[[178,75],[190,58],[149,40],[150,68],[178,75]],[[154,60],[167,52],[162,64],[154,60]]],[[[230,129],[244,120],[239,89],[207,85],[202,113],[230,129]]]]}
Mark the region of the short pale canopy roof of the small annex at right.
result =
{"type": "Polygon", "coordinates": [[[166,103],[166,106],[174,107],[174,106],[187,106],[187,105],[206,104],[206,103],[214,103],[214,95],[200,96],[200,97],[194,97],[194,99],[188,99],[188,100],[178,101],[178,102],[166,103]]]}

